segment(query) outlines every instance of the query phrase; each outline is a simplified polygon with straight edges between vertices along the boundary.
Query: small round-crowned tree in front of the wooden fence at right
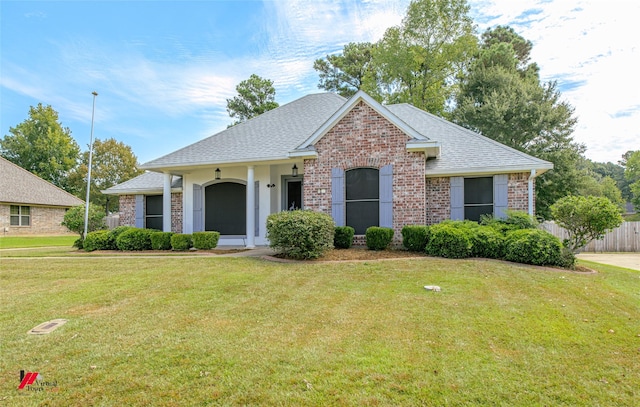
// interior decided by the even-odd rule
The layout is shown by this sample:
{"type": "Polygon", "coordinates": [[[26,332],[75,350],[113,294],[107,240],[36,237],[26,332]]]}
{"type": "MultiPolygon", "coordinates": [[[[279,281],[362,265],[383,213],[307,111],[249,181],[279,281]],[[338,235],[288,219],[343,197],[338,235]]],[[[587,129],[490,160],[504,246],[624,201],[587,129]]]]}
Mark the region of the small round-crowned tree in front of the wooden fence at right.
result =
{"type": "Polygon", "coordinates": [[[567,230],[565,246],[573,253],[622,224],[620,209],[604,197],[566,196],[551,206],[551,215],[567,230]]]}

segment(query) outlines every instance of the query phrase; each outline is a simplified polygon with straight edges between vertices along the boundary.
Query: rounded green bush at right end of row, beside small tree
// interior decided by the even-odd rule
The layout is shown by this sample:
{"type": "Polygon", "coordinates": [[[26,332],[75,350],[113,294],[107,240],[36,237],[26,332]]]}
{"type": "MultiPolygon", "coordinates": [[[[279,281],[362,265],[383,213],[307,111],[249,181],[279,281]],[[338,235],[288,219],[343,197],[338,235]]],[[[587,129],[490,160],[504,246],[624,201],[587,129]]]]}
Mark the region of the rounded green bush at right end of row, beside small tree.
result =
{"type": "Polygon", "coordinates": [[[564,263],[562,243],[544,230],[514,230],[507,234],[505,259],[536,266],[560,266],[564,263]]]}

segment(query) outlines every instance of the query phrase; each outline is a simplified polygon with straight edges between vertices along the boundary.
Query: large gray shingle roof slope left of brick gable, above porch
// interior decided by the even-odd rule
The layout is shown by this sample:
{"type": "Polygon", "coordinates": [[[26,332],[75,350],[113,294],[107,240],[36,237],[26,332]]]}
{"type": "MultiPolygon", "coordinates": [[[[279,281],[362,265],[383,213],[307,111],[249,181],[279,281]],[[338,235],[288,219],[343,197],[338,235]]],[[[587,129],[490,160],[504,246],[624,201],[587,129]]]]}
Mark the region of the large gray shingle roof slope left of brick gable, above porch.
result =
{"type": "Polygon", "coordinates": [[[144,163],[140,168],[158,170],[286,159],[345,101],[334,93],[307,95],[144,163]]]}

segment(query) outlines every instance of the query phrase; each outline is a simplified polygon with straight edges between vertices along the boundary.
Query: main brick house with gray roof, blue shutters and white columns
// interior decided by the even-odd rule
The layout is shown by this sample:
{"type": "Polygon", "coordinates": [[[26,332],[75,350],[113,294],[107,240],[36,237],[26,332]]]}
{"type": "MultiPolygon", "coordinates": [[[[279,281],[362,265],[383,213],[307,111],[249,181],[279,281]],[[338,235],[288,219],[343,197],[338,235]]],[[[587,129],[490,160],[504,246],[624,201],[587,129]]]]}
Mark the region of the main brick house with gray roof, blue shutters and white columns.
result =
{"type": "Polygon", "coordinates": [[[120,196],[121,224],[215,230],[220,245],[268,244],[267,216],[299,208],[357,236],[391,227],[399,241],[409,224],[533,214],[534,178],[552,167],[409,104],[322,93],[147,162],[149,172],[103,192],[120,196]]]}

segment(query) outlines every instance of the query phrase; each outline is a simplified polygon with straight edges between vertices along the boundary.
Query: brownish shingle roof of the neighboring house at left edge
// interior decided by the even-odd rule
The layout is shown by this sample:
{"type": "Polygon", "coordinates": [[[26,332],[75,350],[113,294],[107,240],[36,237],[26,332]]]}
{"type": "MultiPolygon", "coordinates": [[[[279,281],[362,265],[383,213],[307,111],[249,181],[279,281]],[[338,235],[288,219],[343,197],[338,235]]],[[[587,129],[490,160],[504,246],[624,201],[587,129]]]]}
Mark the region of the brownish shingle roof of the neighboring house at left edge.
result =
{"type": "Polygon", "coordinates": [[[0,202],[72,207],[84,201],[0,157],[0,202]]]}

